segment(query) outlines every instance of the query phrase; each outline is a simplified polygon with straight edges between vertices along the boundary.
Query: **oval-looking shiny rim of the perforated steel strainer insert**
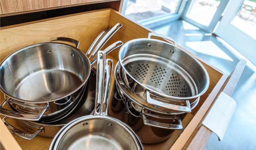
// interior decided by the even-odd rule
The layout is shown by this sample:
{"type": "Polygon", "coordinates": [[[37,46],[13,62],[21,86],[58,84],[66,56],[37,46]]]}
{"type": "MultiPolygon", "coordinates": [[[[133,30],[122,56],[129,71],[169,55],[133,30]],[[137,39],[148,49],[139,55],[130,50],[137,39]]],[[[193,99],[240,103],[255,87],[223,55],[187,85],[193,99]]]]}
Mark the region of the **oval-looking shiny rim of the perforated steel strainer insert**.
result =
{"type": "Polygon", "coordinates": [[[161,40],[157,40],[157,39],[149,39],[149,38],[139,38],[139,39],[133,39],[133,40],[130,40],[128,42],[126,42],[124,45],[122,45],[122,47],[120,48],[119,50],[119,54],[118,54],[118,58],[119,58],[119,61],[117,62],[117,64],[121,64],[121,67],[122,69],[129,75],[129,77],[131,77],[136,83],[138,83],[140,86],[144,87],[145,89],[148,89],[150,92],[153,92],[154,94],[157,94],[157,95],[160,95],[162,97],[166,97],[166,98],[172,98],[172,99],[180,99],[180,100],[183,100],[183,99],[193,99],[193,98],[197,98],[201,95],[203,95],[209,88],[210,86],[210,78],[209,78],[209,75],[208,75],[208,72],[206,71],[205,67],[203,66],[202,63],[199,62],[199,60],[197,60],[195,57],[193,57],[191,54],[189,54],[188,52],[182,50],[181,48],[171,44],[171,43],[168,43],[168,42],[165,42],[165,41],[161,41],[161,40]],[[154,41],[154,42],[161,42],[161,43],[165,43],[165,44],[168,44],[170,46],[173,46],[177,49],[179,49],[180,51],[186,53],[188,56],[190,56],[192,59],[194,59],[200,66],[201,68],[203,69],[204,73],[206,74],[206,86],[205,88],[197,95],[195,96],[191,96],[191,97],[174,97],[174,96],[170,96],[170,95],[166,95],[166,94],[162,94],[162,93],[159,93],[153,89],[150,89],[148,87],[146,87],[145,85],[141,84],[138,80],[136,80],[133,76],[131,76],[131,74],[125,69],[124,67],[124,64],[122,63],[122,59],[121,59],[121,53],[122,51],[124,50],[124,48],[130,44],[130,43],[133,43],[133,42],[136,42],[136,41],[142,41],[142,40],[147,40],[147,41],[154,41]]]}

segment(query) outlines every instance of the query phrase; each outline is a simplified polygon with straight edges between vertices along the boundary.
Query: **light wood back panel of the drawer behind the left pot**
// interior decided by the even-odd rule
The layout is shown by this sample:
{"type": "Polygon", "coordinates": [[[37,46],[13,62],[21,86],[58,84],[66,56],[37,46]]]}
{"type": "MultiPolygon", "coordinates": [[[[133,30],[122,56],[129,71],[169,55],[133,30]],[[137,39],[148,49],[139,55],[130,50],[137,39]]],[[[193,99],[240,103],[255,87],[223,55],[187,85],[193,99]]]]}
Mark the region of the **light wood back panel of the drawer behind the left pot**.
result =
{"type": "Polygon", "coordinates": [[[109,14],[110,10],[104,9],[0,30],[0,60],[23,47],[49,42],[56,37],[78,40],[79,49],[86,52],[98,34],[107,27],[109,14]]]}

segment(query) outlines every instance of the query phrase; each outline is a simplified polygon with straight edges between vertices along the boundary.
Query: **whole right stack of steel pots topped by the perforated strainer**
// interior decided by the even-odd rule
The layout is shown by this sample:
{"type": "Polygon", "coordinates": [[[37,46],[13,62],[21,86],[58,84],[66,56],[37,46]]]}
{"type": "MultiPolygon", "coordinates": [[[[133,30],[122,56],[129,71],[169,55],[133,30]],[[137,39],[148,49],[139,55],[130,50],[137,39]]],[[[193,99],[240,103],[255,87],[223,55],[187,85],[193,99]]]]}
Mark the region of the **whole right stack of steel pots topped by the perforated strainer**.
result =
{"type": "Polygon", "coordinates": [[[182,114],[197,106],[210,83],[196,58],[156,33],[125,43],[114,75],[109,115],[129,125],[142,143],[158,143],[182,130],[182,114]]]}

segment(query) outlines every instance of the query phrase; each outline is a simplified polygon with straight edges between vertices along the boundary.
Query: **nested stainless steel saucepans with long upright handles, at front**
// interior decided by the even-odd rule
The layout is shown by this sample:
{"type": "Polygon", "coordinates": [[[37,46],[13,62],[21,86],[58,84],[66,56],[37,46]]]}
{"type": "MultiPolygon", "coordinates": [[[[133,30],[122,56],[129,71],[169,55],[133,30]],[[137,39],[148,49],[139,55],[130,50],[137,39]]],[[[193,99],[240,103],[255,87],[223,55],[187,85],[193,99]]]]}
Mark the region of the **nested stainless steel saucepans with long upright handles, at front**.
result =
{"type": "Polygon", "coordinates": [[[94,111],[93,116],[85,116],[64,126],[52,141],[50,149],[140,149],[131,129],[121,121],[106,116],[113,64],[106,65],[104,77],[105,54],[102,53],[102,59],[98,60],[95,110],[99,105],[99,112],[94,111]]]}

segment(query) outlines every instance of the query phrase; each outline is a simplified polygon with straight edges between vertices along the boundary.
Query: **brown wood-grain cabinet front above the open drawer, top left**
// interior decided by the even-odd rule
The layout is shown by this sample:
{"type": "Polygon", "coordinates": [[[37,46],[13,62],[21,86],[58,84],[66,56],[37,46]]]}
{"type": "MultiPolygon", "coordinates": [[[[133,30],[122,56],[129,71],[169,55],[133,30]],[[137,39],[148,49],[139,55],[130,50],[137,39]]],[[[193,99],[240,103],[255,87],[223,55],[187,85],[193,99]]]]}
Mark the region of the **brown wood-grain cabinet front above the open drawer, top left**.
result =
{"type": "Polygon", "coordinates": [[[113,5],[111,8],[116,8],[116,10],[121,8],[120,2],[123,3],[123,0],[0,0],[0,15],[3,17],[49,9],[111,1],[119,1],[115,3],[115,5],[113,5]]]}

